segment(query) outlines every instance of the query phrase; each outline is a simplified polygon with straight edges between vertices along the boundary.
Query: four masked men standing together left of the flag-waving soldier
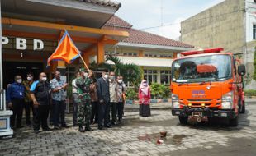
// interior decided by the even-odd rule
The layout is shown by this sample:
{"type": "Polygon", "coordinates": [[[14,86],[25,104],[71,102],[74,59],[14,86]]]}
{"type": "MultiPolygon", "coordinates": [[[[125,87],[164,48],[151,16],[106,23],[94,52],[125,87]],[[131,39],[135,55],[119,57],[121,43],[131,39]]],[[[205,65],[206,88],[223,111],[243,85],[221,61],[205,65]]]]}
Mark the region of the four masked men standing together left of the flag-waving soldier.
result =
{"type": "Polygon", "coordinates": [[[34,75],[28,73],[27,80],[22,81],[21,76],[15,76],[15,81],[7,86],[7,106],[13,112],[11,127],[21,128],[23,108],[26,112],[26,125],[31,125],[33,113],[33,128],[38,133],[40,126],[44,131],[50,131],[48,126],[49,112],[50,121],[55,130],[61,127],[67,128],[65,122],[66,94],[68,84],[60,79],[60,72],[55,71],[55,78],[47,82],[45,72],[41,72],[39,80],[34,80],[34,75]],[[53,103],[50,105],[50,103],[53,103]],[[59,120],[60,119],[60,120],[59,120]]]}

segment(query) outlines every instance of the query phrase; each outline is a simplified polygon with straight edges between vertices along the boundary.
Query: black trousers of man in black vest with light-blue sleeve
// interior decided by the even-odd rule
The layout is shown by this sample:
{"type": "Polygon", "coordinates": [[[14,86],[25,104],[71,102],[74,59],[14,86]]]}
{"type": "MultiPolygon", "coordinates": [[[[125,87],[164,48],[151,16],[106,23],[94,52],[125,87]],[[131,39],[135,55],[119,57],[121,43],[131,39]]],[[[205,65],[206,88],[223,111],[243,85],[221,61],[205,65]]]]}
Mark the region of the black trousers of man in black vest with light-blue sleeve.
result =
{"type": "Polygon", "coordinates": [[[50,105],[39,105],[37,108],[34,108],[34,110],[34,130],[39,130],[40,125],[42,126],[43,130],[47,129],[47,118],[49,116],[50,105]]]}

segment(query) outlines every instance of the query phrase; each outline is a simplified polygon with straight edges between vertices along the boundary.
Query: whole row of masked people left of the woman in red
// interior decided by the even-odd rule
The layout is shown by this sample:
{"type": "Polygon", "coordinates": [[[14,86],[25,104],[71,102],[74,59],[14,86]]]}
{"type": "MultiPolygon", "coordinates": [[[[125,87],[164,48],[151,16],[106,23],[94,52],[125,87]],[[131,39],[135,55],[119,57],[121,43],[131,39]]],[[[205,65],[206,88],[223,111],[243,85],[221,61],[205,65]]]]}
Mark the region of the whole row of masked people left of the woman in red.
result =
{"type": "MultiPolygon", "coordinates": [[[[55,130],[69,127],[65,122],[65,108],[67,95],[65,90],[68,84],[61,80],[61,73],[55,71],[55,78],[47,81],[44,72],[39,80],[34,80],[32,73],[15,76],[14,83],[7,86],[7,106],[13,112],[11,117],[12,128],[21,128],[22,112],[26,110],[26,124],[31,125],[33,113],[33,129],[39,133],[50,131],[50,123],[55,130]],[[50,104],[52,103],[52,104],[50,104]]],[[[122,76],[115,76],[115,72],[102,71],[102,77],[95,79],[92,72],[81,68],[72,81],[73,93],[73,126],[78,131],[93,131],[91,124],[98,124],[98,129],[110,128],[122,122],[126,85],[122,76]]]]}

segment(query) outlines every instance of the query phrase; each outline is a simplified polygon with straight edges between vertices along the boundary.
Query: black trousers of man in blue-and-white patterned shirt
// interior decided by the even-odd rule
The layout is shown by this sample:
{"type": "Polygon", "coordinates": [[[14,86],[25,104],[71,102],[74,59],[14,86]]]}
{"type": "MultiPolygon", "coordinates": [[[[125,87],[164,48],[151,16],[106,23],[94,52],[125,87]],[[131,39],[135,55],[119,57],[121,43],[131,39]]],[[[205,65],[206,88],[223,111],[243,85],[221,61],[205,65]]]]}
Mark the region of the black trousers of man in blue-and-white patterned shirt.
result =
{"type": "Polygon", "coordinates": [[[54,105],[54,125],[59,126],[59,117],[60,117],[60,124],[61,126],[64,126],[66,124],[65,122],[65,109],[66,109],[66,103],[65,101],[56,101],[53,100],[54,105]]]}

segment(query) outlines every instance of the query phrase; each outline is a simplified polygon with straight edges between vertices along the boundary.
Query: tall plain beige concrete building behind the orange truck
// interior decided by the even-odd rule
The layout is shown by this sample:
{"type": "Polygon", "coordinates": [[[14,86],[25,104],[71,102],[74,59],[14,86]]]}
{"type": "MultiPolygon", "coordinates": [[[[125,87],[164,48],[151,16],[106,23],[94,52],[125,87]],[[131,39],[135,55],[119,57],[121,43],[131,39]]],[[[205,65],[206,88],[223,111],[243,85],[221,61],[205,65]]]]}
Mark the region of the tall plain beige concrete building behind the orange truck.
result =
{"type": "Polygon", "coordinates": [[[195,48],[222,47],[254,72],[256,1],[225,0],[181,23],[181,41],[195,48]]]}

